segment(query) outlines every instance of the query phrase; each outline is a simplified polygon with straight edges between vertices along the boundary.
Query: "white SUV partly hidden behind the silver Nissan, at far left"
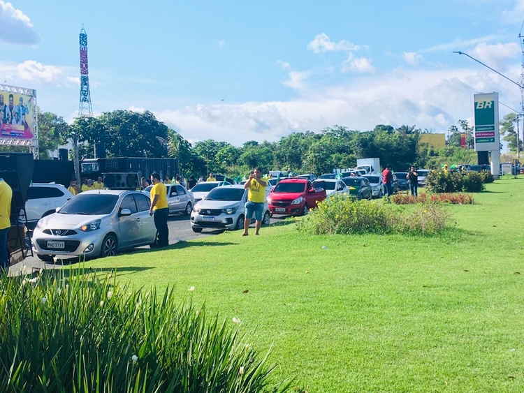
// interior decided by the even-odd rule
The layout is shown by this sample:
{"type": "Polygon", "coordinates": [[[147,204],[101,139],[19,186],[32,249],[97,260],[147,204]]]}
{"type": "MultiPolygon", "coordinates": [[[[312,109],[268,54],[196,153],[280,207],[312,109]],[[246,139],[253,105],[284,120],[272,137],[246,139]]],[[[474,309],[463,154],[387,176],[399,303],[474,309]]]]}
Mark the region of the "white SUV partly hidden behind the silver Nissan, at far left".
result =
{"type": "MultiPolygon", "coordinates": [[[[64,206],[73,194],[61,184],[33,183],[27,188],[25,212],[27,226],[33,229],[38,220],[54,213],[57,207],[64,206]]],[[[23,220],[23,213],[20,218],[23,220]]]]}

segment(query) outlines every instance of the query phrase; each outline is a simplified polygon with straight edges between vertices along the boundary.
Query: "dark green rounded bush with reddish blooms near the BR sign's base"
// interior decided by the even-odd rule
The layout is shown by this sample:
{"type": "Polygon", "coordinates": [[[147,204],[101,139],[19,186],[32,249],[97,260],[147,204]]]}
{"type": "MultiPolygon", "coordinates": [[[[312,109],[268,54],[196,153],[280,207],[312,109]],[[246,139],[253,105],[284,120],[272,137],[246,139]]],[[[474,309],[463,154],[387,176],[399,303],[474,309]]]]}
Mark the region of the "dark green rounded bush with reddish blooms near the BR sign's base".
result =
{"type": "Polygon", "coordinates": [[[433,170],[428,174],[426,186],[432,193],[456,193],[460,191],[479,193],[484,189],[481,175],[473,171],[444,172],[433,170]]]}

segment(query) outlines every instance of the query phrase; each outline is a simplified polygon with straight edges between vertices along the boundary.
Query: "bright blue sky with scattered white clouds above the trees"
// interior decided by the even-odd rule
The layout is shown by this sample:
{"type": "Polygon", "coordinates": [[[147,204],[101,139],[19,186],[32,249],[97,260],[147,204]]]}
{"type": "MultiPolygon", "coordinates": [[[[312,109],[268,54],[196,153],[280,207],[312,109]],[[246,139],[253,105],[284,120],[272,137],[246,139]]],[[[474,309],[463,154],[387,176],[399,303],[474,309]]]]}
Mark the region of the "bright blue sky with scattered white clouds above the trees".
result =
{"type": "MultiPolygon", "coordinates": [[[[78,114],[78,34],[95,114],[150,110],[191,142],[279,140],[333,124],[445,132],[475,92],[518,110],[524,0],[0,0],[0,82],[78,114]]],[[[501,117],[509,110],[501,105],[501,117]]]]}

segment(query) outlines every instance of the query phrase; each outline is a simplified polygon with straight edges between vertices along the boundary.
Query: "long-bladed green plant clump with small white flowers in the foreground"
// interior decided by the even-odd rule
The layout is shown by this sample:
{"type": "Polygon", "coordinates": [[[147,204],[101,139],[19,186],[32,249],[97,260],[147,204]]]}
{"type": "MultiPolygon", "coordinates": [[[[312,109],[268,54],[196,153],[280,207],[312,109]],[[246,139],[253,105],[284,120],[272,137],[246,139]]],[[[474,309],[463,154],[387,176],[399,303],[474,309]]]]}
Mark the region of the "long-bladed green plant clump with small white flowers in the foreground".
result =
{"type": "Polygon", "coordinates": [[[73,269],[33,281],[0,277],[2,392],[289,389],[237,329],[177,306],[172,289],[157,297],[73,269]]]}

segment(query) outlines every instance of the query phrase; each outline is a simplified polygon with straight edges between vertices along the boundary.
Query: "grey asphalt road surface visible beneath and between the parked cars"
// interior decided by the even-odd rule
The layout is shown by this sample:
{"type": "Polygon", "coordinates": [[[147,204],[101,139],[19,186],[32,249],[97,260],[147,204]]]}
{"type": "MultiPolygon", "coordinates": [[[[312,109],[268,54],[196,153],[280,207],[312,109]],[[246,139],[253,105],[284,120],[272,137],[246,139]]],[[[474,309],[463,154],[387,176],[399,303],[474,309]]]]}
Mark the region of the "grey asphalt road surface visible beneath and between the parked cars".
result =
{"type": "MultiPolygon", "coordinates": [[[[282,221],[283,218],[286,216],[279,216],[278,218],[271,218],[270,223],[276,223],[279,221],[282,221]]],[[[253,226],[253,225],[252,225],[253,226]]],[[[168,227],[169,227],[169,244],[175,244],[180,241],[188,241],[193,239],[201,239],[203,237],[209,237],[214,235],[219,235],[222,231],[221,230],[203,230],[201,233],[195,233],[193,230],[191,230],[191,224],[189,223],[189,216],[170,216],[168,220],[168,227]]],[[[133,251],[130,251],[133,252],[133,251]]],[[[64,264],[71,264],[78,262],[78,256],[75,258],[69,258],[66,260],[63,260],[64,264]]],[[[31,269],[52,269],[54,267],[54,264],[52,263],[45,263],[38,259],[35,256],[26,258],[23,262],[17,263],[16,265],[13,265],[10,267],[10,272],[17,274],[17,272],[20,272],[20,269],[22,269],[22,266],[25,265],[27,269],[29,269],[29,272],[31,272],[31,269]]]]}

